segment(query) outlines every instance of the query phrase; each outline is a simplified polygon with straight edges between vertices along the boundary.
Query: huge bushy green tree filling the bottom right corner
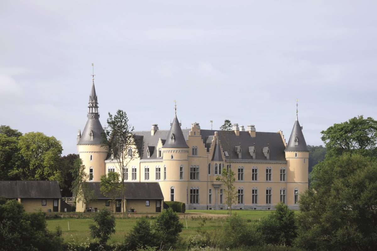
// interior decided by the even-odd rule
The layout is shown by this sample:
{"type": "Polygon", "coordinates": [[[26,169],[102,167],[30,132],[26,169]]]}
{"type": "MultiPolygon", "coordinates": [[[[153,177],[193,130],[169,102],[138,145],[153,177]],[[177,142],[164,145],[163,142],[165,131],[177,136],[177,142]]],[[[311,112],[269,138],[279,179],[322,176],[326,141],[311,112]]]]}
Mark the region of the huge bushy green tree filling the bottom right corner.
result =
{"type": "Polygon", "coordinates": [[[300,196],[296,245],[309,250],[375,250],[377,159],[362,152],[329,155],[300,196]]]}

